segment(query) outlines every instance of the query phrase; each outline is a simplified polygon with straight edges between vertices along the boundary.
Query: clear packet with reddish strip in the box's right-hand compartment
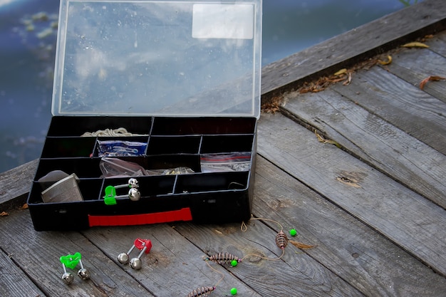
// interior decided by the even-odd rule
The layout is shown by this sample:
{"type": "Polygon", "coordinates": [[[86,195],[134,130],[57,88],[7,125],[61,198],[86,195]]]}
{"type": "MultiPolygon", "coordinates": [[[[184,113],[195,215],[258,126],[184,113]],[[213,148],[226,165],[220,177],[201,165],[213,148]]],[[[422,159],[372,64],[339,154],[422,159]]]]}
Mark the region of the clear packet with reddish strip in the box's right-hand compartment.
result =
{"type": "Polygon", "coordinates": [[[251,152],[204,154],[200,157],[202,172],[247,171],[251,166],[251,152]]]}

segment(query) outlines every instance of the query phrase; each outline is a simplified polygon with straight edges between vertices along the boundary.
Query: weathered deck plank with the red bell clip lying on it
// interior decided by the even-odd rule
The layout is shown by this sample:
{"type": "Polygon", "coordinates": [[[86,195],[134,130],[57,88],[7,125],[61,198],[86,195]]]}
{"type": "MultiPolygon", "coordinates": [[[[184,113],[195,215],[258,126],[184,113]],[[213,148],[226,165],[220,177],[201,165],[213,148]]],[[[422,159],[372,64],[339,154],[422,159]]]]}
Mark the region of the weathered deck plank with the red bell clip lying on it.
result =
{"type": "MultiPolygon", "coordinates": [[[[235,286],[243,296],[259,296],[224,269],[219,269],[223,275],[209,269],[202,260],[202,251],[175,229],[167,224],[156,224],[93,228],[83,231],[83,234],[95,246],[100,246],[110,259],[116,259],[121,252],[127,252],[136,238],[150,239],[152,249],[149,254],[142,256],[140,271],[134,271],[129,266],[120,266],[157,297],[187,296],[196,288],[216,284],[220,295],[229,293],[230,288],[235,286]],[[224,278],[219,282],[222,276],[224,278]]],[[[130,258],[137,255],[138,253],[133,251],[130,258]]]]}

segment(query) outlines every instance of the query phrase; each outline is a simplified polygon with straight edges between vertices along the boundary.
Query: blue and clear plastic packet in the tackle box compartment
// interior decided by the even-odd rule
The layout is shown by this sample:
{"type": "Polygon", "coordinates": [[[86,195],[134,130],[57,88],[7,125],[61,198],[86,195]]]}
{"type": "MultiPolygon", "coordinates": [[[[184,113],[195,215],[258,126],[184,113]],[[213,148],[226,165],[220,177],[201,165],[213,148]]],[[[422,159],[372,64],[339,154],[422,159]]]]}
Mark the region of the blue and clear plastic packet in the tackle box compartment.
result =
{"type": "Polygon", "coordinates": [[[99,157],[125,157],[145,154],[147,143],[128,140],[98,140],[99,157]]]}

